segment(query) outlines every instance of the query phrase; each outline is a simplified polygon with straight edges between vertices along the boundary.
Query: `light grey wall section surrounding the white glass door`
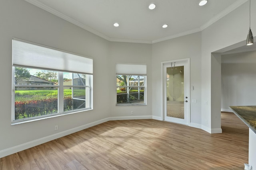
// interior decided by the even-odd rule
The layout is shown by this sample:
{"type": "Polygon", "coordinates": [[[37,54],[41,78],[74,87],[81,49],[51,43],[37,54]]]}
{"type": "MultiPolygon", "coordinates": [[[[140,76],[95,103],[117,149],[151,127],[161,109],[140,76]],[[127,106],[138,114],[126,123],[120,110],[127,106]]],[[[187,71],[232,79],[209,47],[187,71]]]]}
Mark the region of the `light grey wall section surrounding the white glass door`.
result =
{"type": "Polygon", "coordinates": [[[190,58],[190,100],[196,99],[197,103],[191,104],[191,123],[194,126],[201,124],[201,33],[193,33],[183,37],[154,43],[152,45],[152,115],[162,116],[161,103],[161,62],[176,59],[190,58]]]}

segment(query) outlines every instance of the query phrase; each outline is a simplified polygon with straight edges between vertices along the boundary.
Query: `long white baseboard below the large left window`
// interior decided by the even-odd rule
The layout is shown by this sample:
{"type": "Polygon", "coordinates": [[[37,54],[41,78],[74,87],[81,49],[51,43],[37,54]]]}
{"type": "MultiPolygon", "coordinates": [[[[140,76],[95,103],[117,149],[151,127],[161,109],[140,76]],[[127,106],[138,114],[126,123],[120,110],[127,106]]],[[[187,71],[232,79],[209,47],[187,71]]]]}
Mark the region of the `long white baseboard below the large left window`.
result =
{"type": "Polygon", "coordinates": [[[104,123],[106,121],[109,121],[109,118],[101,119],[101,120],[98,120],[98,121],[94,121],[94,122],[88,123],[86,125],[82,125],[82,126],[75,127],[75,128],[72,128],[72,129],[69,129],[69,130],[66,130],[66,131],[62,131],[60,133],[55,133],[53,135],[50,135],[50,136],[47,136],[47,137],[43,137],[43,138],[40,138],[40,139],[36,139],[34,141],[30,141],[30,142],[27,142],[27,143],[23,143],[21,145],[17,145],[17,146],[8,148],[8,149],[0,150],[0,158],[2,158],[4,156],[8,156],[10,154],[14,154],[16,152],[20,152],[22,150],[25,150],[25,149],[28,149],[28,148],[31,148],[31,147],[35,147],[37,145],[40,145],[40,144],[52,141],[54,139],[58,139],[60,137],[64,137],[66,135],[70,135],[72,133],[81,131],[83,129],[87,129],[89,127],[98,125],[100,123],[104,123]]]}

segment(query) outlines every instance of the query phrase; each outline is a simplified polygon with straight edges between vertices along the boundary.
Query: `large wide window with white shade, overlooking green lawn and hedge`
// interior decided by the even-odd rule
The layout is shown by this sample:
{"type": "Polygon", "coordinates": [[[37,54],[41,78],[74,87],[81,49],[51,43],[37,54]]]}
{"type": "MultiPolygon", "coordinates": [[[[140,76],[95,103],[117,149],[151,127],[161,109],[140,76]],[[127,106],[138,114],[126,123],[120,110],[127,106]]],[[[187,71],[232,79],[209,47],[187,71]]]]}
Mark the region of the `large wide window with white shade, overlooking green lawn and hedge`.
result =
{"type": "Polygon", "coordinates": [[[13,39],[12,123],[92,109],[92,59],[13,39]]]}

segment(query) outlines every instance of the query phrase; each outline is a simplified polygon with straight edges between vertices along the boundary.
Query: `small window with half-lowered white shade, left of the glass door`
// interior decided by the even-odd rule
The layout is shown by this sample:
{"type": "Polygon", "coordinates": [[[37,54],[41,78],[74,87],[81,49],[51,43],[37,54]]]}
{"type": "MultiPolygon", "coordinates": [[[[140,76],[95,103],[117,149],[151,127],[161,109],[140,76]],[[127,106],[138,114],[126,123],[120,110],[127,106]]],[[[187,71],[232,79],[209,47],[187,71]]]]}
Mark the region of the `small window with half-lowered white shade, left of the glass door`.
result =
{"type": "Polygon", "coordinates": [[[116,63],[116,105],[146,105],[146,64],[116,63]]]}

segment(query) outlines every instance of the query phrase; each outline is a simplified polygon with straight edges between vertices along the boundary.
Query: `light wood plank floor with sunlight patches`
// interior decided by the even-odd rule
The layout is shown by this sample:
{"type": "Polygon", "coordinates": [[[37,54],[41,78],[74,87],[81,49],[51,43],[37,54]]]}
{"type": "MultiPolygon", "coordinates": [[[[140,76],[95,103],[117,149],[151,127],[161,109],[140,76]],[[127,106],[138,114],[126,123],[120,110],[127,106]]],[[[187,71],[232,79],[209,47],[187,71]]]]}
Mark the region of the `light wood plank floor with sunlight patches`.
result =
{"type": "Polygon", "coordinates": [[[243,170],[248,127],[222,113],[222,134],[152,119],[108,121],[0,158],[1,170],[243,170]]]}

